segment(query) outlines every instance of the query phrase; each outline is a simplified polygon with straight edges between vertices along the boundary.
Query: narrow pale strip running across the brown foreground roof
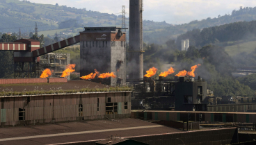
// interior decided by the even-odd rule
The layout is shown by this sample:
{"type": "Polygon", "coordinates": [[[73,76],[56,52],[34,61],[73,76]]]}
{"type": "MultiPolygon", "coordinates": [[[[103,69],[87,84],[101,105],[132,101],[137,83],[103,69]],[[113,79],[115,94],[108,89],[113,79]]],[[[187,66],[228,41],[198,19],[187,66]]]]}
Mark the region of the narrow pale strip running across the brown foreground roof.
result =
{"type": "Polygon", "coordinates": [[[105,129],[105,130],[90,130],[90,131],[80,131],[80,132],[73,132],[73,133],[57,133],[57,134],[50,134],[50,135],[34,135],[28,137],[11,137],[0,139],[0,142],[3,141],[13,141],[19,139],[35,139],[35,138],[42,138],[42,137],[58,137],[58,136],[65,136],[65,135],[81,135],[81,134],[88,134],[88,133],[103,133],[103,132],[110,132],[110,131],[120,131],[120,130],[133,130],[133,129],[144,129],[144,128],[159,128],[163,127],[161,125],[156,126],[138,126],[138,127],[130,127],[130,128],[114,128],[114,129],[105,129]]]}

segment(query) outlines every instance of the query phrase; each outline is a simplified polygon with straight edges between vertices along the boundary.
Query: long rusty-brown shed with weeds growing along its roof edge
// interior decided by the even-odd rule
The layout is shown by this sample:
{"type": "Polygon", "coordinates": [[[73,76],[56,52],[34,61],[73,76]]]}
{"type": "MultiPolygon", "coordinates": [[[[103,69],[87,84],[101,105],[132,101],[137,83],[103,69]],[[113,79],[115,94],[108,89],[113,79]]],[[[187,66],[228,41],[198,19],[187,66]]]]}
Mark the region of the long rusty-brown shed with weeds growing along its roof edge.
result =
{"type": "Polygon", "coordinates": [[[31,85],[6,86],[6,90],[11,88],[13,92],[29,91],[31,88],[31,94],[17,93],[9,96],[6,92],[6,96],[1,96],[1,126],[130,117],[130,91],[80,92],[79,87],[101,86],[101,84],[83,80],[70,81],[57,86],[68,88],[70,85],[74,93],[64,92],[65,89],[59,90],[58,94],[54,93],[51,90],[54,87],[51,86],[56,84],[37,86],[39,90],[44,89],[44,94],[39,94],[39,90],[33,91],[35,86],[31,88],[31,85]]]}

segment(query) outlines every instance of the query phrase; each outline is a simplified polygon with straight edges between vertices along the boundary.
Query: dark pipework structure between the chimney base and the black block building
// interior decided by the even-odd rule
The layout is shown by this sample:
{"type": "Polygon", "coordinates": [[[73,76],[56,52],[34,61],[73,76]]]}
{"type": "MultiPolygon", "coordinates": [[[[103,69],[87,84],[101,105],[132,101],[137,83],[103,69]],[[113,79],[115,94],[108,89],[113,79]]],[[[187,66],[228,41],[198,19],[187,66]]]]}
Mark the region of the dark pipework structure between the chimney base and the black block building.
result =
{"type": "Polygon", "coordinates": [[[159,80],[144,77],[143,79],[129,79],[127,82],[134,84],[132,96],[132,109],[138,108],[166,108],[174,107],[175,83],[177,80],[159,80]]]}

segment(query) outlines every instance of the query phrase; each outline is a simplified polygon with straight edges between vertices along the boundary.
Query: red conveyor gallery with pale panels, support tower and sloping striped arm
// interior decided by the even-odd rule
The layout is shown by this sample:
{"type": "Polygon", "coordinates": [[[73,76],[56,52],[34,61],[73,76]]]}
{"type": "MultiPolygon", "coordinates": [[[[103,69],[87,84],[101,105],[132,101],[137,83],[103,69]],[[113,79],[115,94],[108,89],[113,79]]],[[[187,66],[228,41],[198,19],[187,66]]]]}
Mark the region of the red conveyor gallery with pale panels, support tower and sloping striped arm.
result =
{"type": "Polygon", "coordinates": [[[0,43],[0,51],[14,51],[15,78],[39,78],[40,57],[80,42],[80,35],[40,48],[40,42],[20,39],[12,43],[0,43]]]}

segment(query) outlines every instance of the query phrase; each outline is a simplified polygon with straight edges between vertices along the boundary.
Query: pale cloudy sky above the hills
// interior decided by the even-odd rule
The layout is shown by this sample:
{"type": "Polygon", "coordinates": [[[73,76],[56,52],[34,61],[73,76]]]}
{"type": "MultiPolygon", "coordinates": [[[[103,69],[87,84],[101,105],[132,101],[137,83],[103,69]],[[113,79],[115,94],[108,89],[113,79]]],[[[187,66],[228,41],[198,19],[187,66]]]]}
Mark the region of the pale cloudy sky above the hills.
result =
{"type": "MultiPolygon", "coordinates": [[[[29,0],[34,3],[66,5],[107,13],[122,12],[126,6],[129,15],[129,0],[29,0]]],[[[255,0],[144,0],[143,19],[170,24],[183,24],[193,20],[218,17],[238,10],[240,6],[255,7],[255,0]]]]}

